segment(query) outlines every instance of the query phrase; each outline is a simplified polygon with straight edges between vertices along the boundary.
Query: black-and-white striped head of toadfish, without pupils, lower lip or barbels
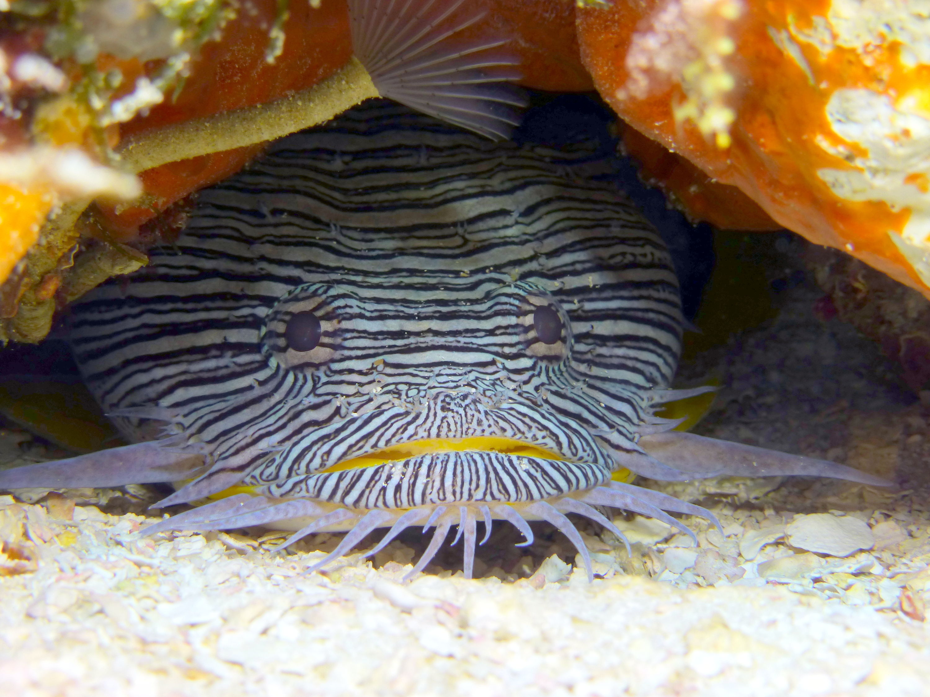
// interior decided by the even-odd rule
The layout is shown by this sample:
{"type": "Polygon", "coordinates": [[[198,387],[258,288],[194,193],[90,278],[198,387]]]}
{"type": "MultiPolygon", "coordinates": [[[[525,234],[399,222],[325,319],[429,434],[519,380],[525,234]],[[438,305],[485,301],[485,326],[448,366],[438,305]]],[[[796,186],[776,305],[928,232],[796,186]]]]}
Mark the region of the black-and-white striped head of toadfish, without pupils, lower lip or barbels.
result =
{"type": "MultiPolygon", "coordinates": [[[[117,419],[129,437],[167,414],[222,486],[323,496],[331,482],[312,475],[341,460],[469,436],[586,464],[565,482],[603,479],[639,450],[682,320],[664,245],[597,181],[594,152],[491,143],[369,103],[204,191],[176,244],[74,308],[75,356],[106,410],[134,410],[117,419]],[[556,344],[536,336],[540,305],[563,318],[556,344]],[[321,344],[289,350],[287,318],[308,309],[321,344]]],[[[551,495],[542,479],[472,481],[517,501],[551,495]]],[[[405,506],[426,495],[403,481],[405,506]]]]}

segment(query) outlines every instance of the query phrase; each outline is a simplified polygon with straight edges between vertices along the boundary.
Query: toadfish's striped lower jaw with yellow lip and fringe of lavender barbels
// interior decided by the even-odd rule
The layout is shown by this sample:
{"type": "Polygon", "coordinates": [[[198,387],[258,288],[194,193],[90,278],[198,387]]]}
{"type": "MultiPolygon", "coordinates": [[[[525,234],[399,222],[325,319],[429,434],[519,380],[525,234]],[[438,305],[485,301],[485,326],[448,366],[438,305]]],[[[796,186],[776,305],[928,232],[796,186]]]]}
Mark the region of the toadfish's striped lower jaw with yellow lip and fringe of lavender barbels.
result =
{"type": "MultiPolygon", "coordinates": [[[[621,470],[621,477],[629,476],[621,470]]],[[[603,464],[566,460],[538,445],[498,437],[426,439],[392,445],[343,460],[325,470],[267,486],[236,486],[215,494],[218,501],[162,520],[145,533],[169,530],[229,530],[263,525],[294,531],[283,548],[312,533],[345,536],[316,562],[316,571],[346,555],[368,533],[389,528],[377,554],[408,527],[433,530],[432,539],[409,578],[432,560],[453,526],[463,547],[463,571],[472,577],[475,546],[484,544],[495,519],[511,523],[534,541],[528,521],[543,520],[578,548],[589,579],[591,558],[567,514],[590,519],[630,546],[599,507],[611,506],[664,520],[695,538],[684,523],[666,511],[702,516],[718,525],[710,511],[664,493],[612,479],[603,464]],[[479,525],[484,528],[479,542],[479,525]]],[[[697,538],[695,538],[697,545],[697,538]]]]}

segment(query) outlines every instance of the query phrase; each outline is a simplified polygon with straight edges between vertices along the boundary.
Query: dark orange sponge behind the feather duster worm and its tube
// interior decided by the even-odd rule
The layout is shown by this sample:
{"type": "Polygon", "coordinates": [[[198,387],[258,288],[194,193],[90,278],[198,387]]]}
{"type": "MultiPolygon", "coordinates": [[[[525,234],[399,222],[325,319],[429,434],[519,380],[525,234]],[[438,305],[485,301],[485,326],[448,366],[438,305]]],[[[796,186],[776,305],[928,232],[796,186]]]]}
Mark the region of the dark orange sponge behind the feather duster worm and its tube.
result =
{"type": "MultiPolygon", "coordinates": [[[[252,5],[254,11],[240,12],[223,29],[219,42],[201,49],[177,99],[166,99],[147,115],[123,125],[123,138],[280,99],[316,85],[352,56],[345,2],[333,0],[316,8],[307,2],[292,2],[283,27],[283,50],[273,62],[266,60],[265,51],[277,0],[256,0],[252,5]]],[[[512,7],[504,0],[476,0],[462,10],[473,12],[475,7],[485,8],[485,16],[461,38],[480,40],[487,33],[512,36],[507,50],[521,59],[523,85],[552,91],[593,89],[578,55],[573,5],[562,0],[530,0],[512,7]],[[525,21],[526,16],[534,21],[525,21]]],[[[108,232],[119,242],[133,241],[140,225],[189,193],[234,174],[261,149],[257,144],[143,172],[140,178],[148,194],[144,204],[98,204],[108,232]]]]}

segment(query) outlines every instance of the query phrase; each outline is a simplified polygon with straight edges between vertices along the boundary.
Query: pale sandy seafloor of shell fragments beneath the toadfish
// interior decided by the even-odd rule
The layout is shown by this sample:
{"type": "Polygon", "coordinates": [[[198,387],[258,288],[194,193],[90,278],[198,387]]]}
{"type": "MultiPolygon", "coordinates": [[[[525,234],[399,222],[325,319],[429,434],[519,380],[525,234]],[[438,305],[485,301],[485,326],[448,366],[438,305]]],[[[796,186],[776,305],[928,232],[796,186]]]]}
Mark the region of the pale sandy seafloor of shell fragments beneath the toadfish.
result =
{"type": "MultiPolygon", "coordinates": [[[[545,527],[528,549],[499,529],[476,562],[483,578],[461,577],[459,543],[402,584],[422,549],[414,533],[374,564],[354,554],[308,574],[335,537],[288,553],[261,531],[140,537],[158,495],[144,487],[3,496],[0,694],[930,693],[930,410],[868,340],[817,319],[813,287],[792,283],[776,322],[684,366],[685,379],[724,381],[697,431],[827,456],[898,490],[665,486],[714,510],[725,536],[688,519],[692,548],[618,516],[630,557],[582,524],[592,584],[545,527]]],[[[23,431],[0,434],[0,466],[47,456],[23,431]]]]}

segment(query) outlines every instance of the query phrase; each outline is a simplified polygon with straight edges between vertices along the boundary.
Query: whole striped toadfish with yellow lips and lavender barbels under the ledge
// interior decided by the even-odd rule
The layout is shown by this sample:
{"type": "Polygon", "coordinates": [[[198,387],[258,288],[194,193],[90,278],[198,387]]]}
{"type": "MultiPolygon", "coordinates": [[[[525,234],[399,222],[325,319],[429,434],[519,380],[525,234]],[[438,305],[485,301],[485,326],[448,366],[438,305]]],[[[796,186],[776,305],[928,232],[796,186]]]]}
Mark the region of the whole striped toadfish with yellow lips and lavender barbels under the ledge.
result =
{"type": "Polygon", "coordinates": [[[369,555],[432,530],[408,575],[452,527],[471,577],[494,520],[525,544],[546,520],[591,577],[568,514],[621,540],[605,507],[692,536],[670,513],[718,524],[636,475],[888,483],[656,416],[687,394],[669,388],[684,320],[664,243],[598,178],[599,144],[475,135],[510,120],[481,88],[418,98],[433,116],[368,102],[203,191],[176,243],[73,307],[86,384],[134,444],[0,472],[0,487],[172,481],[159,506],[216,500],[149,533],[347,531],[314,569],[379,528],[369,555]]]}

